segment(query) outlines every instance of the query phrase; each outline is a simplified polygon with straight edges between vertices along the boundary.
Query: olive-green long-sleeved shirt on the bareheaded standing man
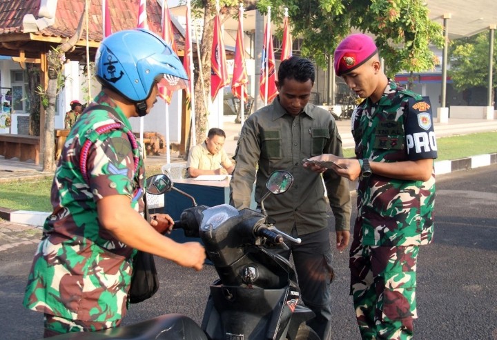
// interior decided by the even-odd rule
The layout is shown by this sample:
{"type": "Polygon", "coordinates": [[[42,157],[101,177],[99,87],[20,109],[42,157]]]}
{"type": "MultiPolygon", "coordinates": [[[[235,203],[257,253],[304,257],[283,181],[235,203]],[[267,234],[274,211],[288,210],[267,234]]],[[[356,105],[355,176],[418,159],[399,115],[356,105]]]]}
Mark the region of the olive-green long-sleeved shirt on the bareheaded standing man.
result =
{"type": "Polygon", "coordinates": [[[286,113],[276,98],[245,121],[235,153],[231,178],[231,203],[238,210],[249,208],[255,182],[255,201],[268,191],[266,181],[275,170],[293,174],[293,186],[284,194],[264,201],[264,208],[283,232],[293,225],[299,235],[327,228],[327,202],[335,215],[335,229],[349,230],[349,181],[332,170],[321,174],[302,166],[302,160],[323,153],[342,155],[342,140],[333,116],[310,103],[296,117],[286,113]],[[258,166],[258,168],[257,168],[258,166]],[[257,170],[257,173],[256,173],[257,170]]]}

